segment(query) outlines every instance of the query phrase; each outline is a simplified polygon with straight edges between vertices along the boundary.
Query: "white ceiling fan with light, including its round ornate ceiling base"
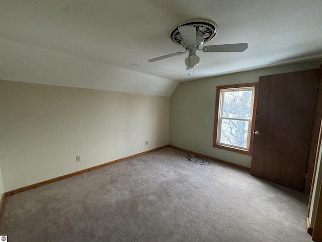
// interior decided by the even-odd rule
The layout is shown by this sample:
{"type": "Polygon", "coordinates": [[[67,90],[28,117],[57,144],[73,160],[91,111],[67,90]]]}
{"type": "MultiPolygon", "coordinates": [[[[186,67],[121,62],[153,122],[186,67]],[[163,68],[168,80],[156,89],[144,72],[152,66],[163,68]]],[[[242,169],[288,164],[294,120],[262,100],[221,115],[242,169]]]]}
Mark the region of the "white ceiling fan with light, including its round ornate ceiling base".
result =
{"type": "Polygon", "coordinates": [[[175,55],[188,52],[185,58],[187,70],[199,65],[200,57],[196,55],[197,50],[203,52],[243,52],[248,48],[247,43],[220,44],[201,46],[211,40],[217,34],[216,23],[205,19],[193,19],[179,24],[171,32],[171,39],[176,44],[181,45],[186,51],[179,51],[149,59],[148,62],[156,62],[175,55]]]}

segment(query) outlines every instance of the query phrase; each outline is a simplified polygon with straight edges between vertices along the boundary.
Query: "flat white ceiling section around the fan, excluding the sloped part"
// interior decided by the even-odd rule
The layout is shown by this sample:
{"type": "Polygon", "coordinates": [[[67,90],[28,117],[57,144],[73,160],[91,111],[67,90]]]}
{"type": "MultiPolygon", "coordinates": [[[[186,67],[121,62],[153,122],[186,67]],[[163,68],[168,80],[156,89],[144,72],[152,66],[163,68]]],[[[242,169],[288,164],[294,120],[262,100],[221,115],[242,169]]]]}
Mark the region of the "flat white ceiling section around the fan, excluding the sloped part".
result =
{"type": "Polygon", "coordinates": [[[186,54],[170,39],[196,18],[218,25],[205,45],[247,42],[241,53],[198,51],[194,78],[322,58],[321,0],[0,0],[0,37],[172,81],[186,54]]]}

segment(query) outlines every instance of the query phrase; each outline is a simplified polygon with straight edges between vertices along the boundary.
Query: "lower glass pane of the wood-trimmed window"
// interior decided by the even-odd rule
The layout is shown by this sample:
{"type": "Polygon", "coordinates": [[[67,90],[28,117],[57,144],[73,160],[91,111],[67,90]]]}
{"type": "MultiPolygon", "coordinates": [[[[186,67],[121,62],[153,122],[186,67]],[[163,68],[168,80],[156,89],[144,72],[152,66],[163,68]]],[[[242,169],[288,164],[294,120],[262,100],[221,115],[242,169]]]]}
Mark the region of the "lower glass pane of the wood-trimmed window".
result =
{"type": "Polygon", "coordinates": [[[220,143],[247,147],[248,121],[221,119],[220,143]]]}

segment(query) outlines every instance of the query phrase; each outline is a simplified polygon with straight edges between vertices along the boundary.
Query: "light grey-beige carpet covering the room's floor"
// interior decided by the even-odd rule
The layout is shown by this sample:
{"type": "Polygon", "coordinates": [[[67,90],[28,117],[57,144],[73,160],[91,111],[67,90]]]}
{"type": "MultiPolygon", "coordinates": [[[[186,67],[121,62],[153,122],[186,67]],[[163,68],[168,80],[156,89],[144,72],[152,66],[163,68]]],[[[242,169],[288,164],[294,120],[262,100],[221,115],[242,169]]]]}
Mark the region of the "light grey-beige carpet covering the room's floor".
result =
{"type": "Polygon", "coordinates": [[[8,241],[311,241],[307,196],[170,147],[10,196],[8,241]]]}

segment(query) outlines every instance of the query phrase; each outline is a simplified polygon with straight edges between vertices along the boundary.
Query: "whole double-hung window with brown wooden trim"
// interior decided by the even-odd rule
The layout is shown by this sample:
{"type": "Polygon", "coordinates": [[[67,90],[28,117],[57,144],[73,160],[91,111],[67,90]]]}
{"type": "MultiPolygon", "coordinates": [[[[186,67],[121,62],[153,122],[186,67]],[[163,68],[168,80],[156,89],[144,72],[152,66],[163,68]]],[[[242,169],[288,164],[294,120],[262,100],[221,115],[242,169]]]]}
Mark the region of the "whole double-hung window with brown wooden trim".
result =
{"type": "Polygon", "coordinates": [[[217,86],[213,147],[252,154],[257,86],[217,86]]]}

